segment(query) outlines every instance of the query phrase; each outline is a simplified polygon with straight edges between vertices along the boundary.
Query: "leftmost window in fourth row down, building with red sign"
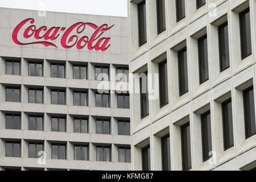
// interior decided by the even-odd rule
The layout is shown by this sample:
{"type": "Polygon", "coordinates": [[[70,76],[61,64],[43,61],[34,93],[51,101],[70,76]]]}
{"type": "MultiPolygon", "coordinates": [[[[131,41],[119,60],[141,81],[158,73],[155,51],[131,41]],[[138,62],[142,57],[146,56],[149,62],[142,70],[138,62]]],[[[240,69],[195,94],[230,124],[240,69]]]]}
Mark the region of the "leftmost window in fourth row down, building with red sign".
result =
{"type": "Polygon", "coordinates": [[[20,158],[20,142],[6,142],[5,156],[12,158],[20,158]]]}

